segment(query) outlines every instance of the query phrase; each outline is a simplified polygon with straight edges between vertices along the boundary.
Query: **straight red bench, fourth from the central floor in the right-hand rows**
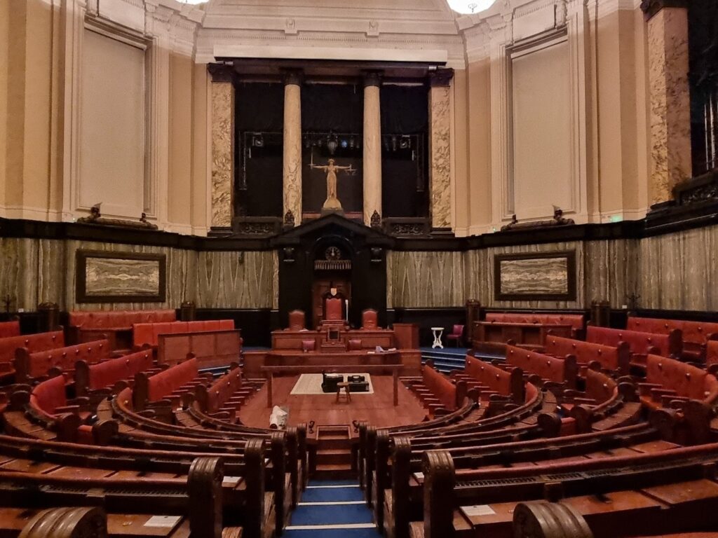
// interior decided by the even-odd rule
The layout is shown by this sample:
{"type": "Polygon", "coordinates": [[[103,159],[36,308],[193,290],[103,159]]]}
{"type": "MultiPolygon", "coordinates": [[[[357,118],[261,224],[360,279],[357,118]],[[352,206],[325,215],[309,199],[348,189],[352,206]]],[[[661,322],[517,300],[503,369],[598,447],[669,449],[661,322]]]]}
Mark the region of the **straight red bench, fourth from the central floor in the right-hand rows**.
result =
{"type": "Polygon", "coordinates": [[[586,341],[612,347],[619,347],[621,342],[625,342],[630,349],[632,364],[643,364],[648,354],[681,357],[683,348],[681,331],[678,329],[673,329],[670,334],[653,334],[588,326],[586,341]]]}

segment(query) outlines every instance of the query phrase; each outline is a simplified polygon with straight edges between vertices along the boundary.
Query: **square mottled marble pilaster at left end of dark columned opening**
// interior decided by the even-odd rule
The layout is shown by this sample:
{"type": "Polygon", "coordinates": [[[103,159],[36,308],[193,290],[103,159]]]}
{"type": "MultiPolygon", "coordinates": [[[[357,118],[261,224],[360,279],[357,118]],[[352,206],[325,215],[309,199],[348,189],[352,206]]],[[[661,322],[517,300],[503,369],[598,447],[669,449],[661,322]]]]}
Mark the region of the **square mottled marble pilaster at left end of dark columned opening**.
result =
{"type": "Polygon", "coordinates": [[[209,66],[212,99],[212,217],[211,227],[232,226],[234,177],[234,85],[223,65],[209,66]]]}

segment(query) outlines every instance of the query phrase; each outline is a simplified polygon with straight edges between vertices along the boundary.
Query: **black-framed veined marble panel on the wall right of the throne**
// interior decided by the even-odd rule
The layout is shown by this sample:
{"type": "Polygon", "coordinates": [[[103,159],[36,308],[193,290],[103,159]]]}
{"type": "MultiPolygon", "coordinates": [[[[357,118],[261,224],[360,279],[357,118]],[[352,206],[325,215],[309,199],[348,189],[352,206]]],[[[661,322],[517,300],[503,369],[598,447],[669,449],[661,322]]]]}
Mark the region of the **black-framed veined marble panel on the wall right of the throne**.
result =
{"type": "Polygon", "coordinates": [[[575,301],[576,251],[497,254],[496,301],[575,301]]]}

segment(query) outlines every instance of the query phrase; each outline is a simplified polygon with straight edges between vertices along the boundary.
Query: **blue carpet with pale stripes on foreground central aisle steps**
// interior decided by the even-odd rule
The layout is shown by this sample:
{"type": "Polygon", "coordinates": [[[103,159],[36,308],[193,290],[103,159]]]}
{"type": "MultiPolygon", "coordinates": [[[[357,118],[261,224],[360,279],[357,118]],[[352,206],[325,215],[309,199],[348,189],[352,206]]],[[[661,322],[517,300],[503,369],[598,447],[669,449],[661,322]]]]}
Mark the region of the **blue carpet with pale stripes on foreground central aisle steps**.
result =
{"type": "Polygon", "coordinates": [[[286,538],[378,538],[356,480],[312,480],[292,512],[286,538]]]}

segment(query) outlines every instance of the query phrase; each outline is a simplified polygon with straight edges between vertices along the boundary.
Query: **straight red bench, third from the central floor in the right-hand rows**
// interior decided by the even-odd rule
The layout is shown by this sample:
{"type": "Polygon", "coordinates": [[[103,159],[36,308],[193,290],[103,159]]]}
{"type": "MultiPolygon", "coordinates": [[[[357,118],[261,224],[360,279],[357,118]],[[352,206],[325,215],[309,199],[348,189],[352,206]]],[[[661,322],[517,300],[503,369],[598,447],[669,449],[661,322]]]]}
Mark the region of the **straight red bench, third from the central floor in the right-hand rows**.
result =
{"type": "Polygon", "coordinates": [[[619,342],[614,347],[549,335],[546,336],[544,352],[554,357],[572,355],[582,370],[596,364],[600,369],[628,374],[630,349],[626,342],[619,342]]]}

